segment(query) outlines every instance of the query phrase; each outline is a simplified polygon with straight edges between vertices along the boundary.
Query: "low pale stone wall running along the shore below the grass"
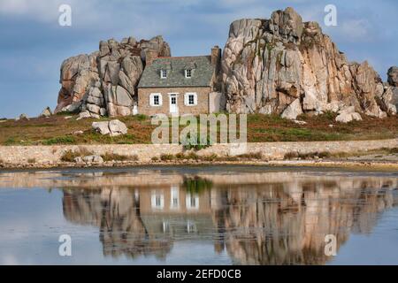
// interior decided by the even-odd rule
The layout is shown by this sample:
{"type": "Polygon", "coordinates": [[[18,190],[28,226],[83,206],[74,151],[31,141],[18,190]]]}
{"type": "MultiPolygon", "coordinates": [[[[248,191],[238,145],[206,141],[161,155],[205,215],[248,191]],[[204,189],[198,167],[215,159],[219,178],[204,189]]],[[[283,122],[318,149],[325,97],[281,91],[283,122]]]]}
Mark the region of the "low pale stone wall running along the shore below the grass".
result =
{"type": "MultiPolygon", "coordinates": [[[[261,142],[244,144],[216,144],[196,153],[200,156],[216,154],[219,157],[242,153],[261,152],[264,159],[283,159],[288,152],[356,152],[380,148],[397,148],[398,139],[352,142],[261,142]]],[[[184,152],[181,145],[175,144],[107,144],[107,145],[64,145],[64,146],[0,146],[0,163],[4,164],[59,164],[67,150],[87,149],[95,155],[113,153],[123,156],[136,156],[141,162],[149,162],[152,157],[163,154],[184,152]]]]}

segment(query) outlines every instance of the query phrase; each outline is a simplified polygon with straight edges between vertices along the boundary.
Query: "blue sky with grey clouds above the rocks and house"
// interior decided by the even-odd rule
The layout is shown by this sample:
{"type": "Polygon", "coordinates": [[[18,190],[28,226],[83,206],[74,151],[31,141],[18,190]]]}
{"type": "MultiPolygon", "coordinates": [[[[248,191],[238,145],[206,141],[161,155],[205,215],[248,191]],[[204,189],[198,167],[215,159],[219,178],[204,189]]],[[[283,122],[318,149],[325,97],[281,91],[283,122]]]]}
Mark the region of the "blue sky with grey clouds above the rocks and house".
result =
{"type": "Polygon", "coordinates": [[[57,105],[63,60],[98,50],[98,42],[158,34],[172,56],[205,55],[224,47],[235,19],[269,19],[293,7],[303,20],[318,21],[349,61],[368,60],[387,80],[398,65],[396,0],[0,0],[0,118],[34,117],[57,105]],[[72,26],[61,27],[62,4],[72,26]],[[337,8],[337,26],[325,27],[325,5],[337,8]]]}

